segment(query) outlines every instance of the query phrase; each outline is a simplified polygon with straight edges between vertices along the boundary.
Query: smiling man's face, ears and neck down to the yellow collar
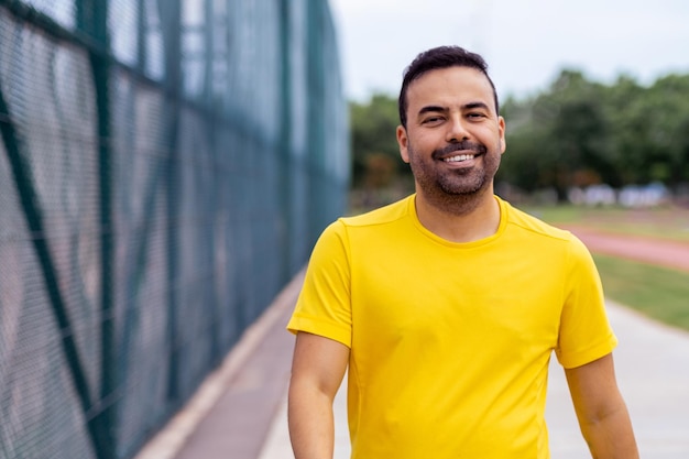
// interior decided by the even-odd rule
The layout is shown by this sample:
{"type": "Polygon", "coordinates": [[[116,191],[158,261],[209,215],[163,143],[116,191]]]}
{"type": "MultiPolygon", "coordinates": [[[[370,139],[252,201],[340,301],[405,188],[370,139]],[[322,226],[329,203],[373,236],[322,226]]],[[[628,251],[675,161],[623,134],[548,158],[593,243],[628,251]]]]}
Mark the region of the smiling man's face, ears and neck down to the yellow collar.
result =
{"type": "Polygon", "coordinates": [[[505,151],[505,122],[488,77],[464,66],[422,72],[407,83],[400,107],[405,114],[397,142],[416,181],[422,223],[458,242],[492,234],[500,220],[493,177],[505,151]],[[479,232],[456,233],[466,225],[448,225],[448,218],[468,215],[468,221],[483,223],[479,232]]]}

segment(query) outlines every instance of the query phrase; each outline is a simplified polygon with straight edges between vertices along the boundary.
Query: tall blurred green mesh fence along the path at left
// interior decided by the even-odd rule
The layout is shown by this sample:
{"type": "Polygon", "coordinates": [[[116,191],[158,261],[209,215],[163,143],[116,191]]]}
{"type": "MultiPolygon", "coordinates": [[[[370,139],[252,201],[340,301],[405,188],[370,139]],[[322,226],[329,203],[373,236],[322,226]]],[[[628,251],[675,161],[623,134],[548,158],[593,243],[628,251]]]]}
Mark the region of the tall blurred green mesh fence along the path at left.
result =
{"type": "Polygon", "coordinates": [[[0,458],[131,458],[346,208],[326,0],[0,0],[0,458]]]}

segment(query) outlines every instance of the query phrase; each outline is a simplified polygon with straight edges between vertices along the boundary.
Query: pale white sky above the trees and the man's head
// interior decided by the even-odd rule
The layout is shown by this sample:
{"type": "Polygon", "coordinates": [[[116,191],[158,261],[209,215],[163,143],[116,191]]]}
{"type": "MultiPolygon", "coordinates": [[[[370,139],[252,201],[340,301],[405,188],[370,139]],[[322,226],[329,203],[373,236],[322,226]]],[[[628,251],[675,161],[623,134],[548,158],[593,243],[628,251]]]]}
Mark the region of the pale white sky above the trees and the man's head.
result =
{"type": "Polygon", "coordinates": [[[689,74],[687,0],[330,0],[347,96],[396,96],[426,48],[481,54],[499,96],[546,89],[564,67],[597,81],[689,74]]]}

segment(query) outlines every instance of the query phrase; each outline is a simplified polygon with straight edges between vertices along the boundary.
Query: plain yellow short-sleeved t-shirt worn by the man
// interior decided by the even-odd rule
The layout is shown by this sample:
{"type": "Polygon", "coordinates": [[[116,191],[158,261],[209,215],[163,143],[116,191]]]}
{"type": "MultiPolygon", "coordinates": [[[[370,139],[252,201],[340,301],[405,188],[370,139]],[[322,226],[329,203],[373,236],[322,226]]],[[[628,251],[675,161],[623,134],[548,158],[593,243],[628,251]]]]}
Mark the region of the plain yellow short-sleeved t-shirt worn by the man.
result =
{"type": "Polygon", "coordinates": [[[351,350],[353,459],[545,459],[547,370],[612,351],[593,261],[497,198],[495,234],[452,243],[414,196],[321,234],[287,326],[351,350]]]}

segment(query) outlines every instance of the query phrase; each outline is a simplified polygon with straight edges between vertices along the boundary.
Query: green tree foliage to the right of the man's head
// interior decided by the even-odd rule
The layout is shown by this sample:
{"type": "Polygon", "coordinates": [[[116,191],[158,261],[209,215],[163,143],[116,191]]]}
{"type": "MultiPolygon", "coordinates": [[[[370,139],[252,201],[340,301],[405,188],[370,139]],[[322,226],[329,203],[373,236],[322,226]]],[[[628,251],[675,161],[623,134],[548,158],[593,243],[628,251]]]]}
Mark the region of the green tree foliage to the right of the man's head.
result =
{"type": "Polygon", "coordinates": [[[542,94],[503,105],[507,152],[499,179],[525,192],[689,182],[689,75],[609,86],[565,69],[542,94]]]}

